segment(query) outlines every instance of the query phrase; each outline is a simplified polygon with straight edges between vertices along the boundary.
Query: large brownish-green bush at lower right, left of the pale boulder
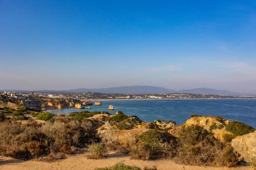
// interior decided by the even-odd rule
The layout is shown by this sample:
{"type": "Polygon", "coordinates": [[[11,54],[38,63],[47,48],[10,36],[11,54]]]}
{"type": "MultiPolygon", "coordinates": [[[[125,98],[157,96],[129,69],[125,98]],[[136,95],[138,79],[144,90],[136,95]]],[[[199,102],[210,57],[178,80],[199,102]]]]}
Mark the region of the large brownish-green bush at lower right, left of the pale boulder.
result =
{"type": "Polygon", "coordinates": [[[230,150],[231,146],[223,144],[201,126],[183,126],[179,131],[179,139],[179,163],[232,167],[238,161],[234,152],[230,150]]]}

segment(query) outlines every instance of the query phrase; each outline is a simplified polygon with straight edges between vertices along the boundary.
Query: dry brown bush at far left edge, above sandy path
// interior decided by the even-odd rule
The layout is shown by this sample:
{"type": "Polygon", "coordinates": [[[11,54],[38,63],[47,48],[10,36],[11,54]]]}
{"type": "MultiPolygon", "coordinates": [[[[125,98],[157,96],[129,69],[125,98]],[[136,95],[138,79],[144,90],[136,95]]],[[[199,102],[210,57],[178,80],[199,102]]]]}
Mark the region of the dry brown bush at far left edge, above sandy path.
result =
{"type": "Polygon", "coordinates": [[[46,136],[40,132],[40,125],[28,122],[4,122],[0,125],[0,152],[14,158],[32,158],[47,154],[44,145],[46,136]]]}

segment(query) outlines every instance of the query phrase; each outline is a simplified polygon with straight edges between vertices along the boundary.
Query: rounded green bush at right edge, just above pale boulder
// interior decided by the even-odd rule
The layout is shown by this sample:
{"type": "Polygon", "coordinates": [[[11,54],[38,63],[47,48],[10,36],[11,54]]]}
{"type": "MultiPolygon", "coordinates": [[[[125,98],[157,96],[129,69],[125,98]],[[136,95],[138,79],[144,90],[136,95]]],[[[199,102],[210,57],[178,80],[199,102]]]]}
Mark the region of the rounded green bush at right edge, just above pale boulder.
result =
{"type": "Polygon", "coordinates": [[[242,136],[254,132],[255,128],[242,122],[232,121],[226,126],[228,132],[232,132],[235,136],[242,136]]]}

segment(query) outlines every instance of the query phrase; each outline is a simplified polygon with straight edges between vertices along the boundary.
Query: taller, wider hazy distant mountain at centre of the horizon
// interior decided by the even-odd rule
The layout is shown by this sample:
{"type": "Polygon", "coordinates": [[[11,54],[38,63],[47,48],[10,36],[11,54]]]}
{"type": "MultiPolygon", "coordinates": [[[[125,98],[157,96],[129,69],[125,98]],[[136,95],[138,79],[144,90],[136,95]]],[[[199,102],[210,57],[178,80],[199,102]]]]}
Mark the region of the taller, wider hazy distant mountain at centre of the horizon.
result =
{"type": "Polygon", "coordinates": [[[98,93],[123,93],[123,94],[153,94],[153,93],[174,93],[174,90],[165,89],[163,87],[154,87],[154,86],[122,86],[122,87],[109,87],[102,89],[70,89],[70,92],[98,92],[98,93]]]}

